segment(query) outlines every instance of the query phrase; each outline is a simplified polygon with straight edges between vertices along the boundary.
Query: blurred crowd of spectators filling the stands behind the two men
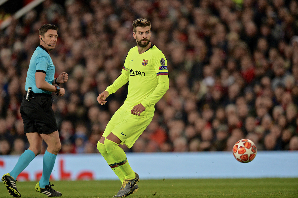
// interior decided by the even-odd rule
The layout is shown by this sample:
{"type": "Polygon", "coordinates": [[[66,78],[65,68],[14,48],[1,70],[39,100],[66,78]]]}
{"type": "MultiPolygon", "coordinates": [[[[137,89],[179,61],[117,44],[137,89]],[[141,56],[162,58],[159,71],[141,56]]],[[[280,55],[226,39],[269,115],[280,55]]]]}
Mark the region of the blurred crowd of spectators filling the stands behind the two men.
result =
{"type": "Polygon", "coordinates": [[[298,150],[296,0],[46,0],[0,32],[0,153],[29,146],[19,109],[45,23],[59,28],[56,76],[69,74],[65,95],[52,96],[60,153],[97,153],[128,85],[103,106],[96,98],[136,46],[137,18],[151,21],[170,89],[134,146],[120,145],[125,152],[232,151],[245,138],[258,150],[298,150]]]}

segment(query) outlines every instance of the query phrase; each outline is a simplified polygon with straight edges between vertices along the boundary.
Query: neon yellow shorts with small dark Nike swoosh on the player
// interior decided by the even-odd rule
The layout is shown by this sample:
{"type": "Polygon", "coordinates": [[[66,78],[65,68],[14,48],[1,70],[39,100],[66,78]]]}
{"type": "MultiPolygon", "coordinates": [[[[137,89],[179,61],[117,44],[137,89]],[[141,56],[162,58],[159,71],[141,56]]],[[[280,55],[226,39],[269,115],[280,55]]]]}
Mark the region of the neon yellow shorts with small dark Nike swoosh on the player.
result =
{"type": "Polygon", "coordinates": [[[120,144],[124,143],[131,148],[152,119],[153,117],[133,115],[130,111],[120,108],[108,122],[103,137],[106,138],[108,134],[113,133],[122,141],[120,144]]]}

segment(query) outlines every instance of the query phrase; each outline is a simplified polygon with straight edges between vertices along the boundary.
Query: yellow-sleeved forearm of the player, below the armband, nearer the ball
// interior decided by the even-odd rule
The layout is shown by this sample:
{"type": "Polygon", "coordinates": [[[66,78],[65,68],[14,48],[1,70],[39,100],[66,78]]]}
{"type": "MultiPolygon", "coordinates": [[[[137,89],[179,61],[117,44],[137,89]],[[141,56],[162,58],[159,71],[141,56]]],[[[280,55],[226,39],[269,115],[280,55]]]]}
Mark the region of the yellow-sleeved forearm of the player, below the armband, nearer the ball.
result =
{"type": "Polygon", "coordinates": [[[142,105],[145,106],[146,108],[148,106],[154,105],[155,103],[158,102],[158,100],[160,100],[160,98],[162,98],[162,96],[167,92],[168,89],[169,89],[169,81],[159,82],[159,84],[156,86],[154,91],[141,102],[142,105]]]}

